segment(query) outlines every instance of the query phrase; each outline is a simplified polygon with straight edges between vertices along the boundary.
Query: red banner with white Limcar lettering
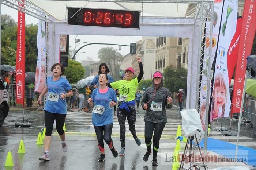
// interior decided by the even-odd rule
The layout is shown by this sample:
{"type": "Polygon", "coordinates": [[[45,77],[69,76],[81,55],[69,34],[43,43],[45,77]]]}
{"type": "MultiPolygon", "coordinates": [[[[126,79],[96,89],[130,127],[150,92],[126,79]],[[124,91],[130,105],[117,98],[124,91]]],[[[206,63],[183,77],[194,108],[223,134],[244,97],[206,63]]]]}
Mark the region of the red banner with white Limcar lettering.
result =
{"type": "Polygon", "coordinates": [[[234,73],[234,68],[237,62],[237,53],[238,53],[238,47],[239,47],[241,28],[242,28],[242,18],[238,18],[237,29],[230,43],[229,49],[227,51],[227,70],[229,74],[229,84],[231,82],[231,79],[234,73]]]}

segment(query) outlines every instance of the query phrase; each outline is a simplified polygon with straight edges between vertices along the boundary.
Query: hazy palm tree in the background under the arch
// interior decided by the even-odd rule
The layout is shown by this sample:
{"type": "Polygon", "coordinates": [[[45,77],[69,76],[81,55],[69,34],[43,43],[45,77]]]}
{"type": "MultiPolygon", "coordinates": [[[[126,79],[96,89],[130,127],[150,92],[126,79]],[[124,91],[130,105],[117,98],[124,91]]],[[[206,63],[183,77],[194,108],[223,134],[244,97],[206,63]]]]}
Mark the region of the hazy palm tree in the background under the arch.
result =
{"type": "Polygon", "coordinates": [[[113,47],[103,47],[98,51],[99,62],[106,63],[109,67],[110,74],[113,78],[118,79],[120,62],[123,61],[123,56],[121,53],[114,49],[113,47]],[[112,69],[112,63],[114,68],[112,69]],[[116,76],[114,76],[116,75],[116,76]]]}

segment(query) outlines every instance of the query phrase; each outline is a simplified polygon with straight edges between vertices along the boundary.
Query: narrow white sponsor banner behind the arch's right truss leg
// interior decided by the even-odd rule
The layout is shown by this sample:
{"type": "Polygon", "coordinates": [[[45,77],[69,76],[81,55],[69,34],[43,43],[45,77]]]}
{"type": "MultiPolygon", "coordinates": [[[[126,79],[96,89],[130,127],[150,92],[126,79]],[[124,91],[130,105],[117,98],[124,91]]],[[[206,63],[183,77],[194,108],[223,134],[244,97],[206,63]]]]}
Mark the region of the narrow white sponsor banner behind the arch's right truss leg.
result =
{"type": "MultiPolygon", "coordinates": [[[[208,51],[209,46],[212,46],[212,53],[211,53],[211,61],[209,62],[208,59],[206,59],[206,55],[204,55],[204,61],[203,63],[203,75],[202,75],[202,84],[200,88],[200,117],[202,120],[202,126],[204,129],[205,124],[205,114],[208,113],[206,111],[206,92],[211,92],[209,89],[207,90],[207,66],[210,65],[212,67],[212,63],[215,58],[215,53],[217,50],[217,41],[219,37],[219,27],[221,24],[221,14],[222,14],[222,6],[223,6],[223,0],[215,0],[214,2],[214,13],[213,15],[213,28],[212,28],[212,42],[210,42],[210,37],[206,37],[206,45],[204,46],[205,50],[208,51]]],[[[208,21],[211,21],[211,18],[207,18],[208,21]]],[[[205,30],[206,35],[210,35],[210,25],[205,30]]],[[[208,101],[209,102],[209,101],[208,101]]]]}

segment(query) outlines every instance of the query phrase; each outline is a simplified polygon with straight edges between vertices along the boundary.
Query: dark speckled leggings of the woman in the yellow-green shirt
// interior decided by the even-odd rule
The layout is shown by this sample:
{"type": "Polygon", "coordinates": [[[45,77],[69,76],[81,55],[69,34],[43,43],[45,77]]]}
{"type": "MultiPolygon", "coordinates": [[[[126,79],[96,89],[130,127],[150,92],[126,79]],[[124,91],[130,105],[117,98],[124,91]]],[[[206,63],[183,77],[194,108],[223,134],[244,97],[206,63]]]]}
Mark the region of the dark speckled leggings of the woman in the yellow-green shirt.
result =
{"type": "Polygon", "coordinates": [[[136,110],[130,108],[130,113],[127,113],[126,111],[120,111],[120,109],[117,109],[117,118],[120,126],[120,141],[121,141],[121,147],[125,146],[125,120],[127,117],[128,124],[129,124],[129,130],[132,133],[133,138],[137,138],[136,130],[135,130],[135,123],[136,123],[136,110]]]}

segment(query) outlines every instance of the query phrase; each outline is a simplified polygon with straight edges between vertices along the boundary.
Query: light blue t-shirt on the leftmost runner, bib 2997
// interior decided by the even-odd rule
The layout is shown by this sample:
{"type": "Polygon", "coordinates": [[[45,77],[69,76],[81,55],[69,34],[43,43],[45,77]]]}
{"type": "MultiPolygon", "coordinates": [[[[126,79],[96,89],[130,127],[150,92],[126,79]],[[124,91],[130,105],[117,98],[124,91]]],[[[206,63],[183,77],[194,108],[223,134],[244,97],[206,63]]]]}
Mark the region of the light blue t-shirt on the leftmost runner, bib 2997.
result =
{"type": "Polygon", "coordinates": [[[47,84],[47,89],[48,89],[48,95],[46,98],[46,103],[44,110],[50,112],[50,113],[60,113],[60,114],[66,114],[67,113],[67,103],[66,99],[62,100],[60,98],[60,93],[67,93],[67,91],[71,90],[72,87],[69,84],[68,80],[60,77],[59,80],[53,81],[52,77],[48,77],[46,84],[47,84]],[[52,97],[53,100],[56,100],[58,98],[58,101],[50,101],[49,96],[56,96],[59,94],[58,97],[52,97]]]}

